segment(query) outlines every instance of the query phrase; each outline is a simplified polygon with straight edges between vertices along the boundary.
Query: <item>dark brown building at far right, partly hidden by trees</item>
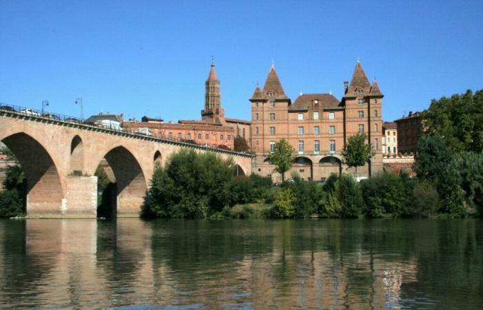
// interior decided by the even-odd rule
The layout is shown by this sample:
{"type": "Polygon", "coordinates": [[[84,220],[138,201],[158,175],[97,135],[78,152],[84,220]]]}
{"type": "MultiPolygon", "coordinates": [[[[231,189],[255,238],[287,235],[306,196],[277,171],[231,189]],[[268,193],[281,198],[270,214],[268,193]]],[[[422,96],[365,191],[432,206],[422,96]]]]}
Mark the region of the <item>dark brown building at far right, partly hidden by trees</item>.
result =
{"type": "Polygon", "coordinates": [[[417,149],[417,138],[423,131],[420,112],[409,112],[395,121],[397,123],[397,145],[399,152],[415,154],[417,149]]]}

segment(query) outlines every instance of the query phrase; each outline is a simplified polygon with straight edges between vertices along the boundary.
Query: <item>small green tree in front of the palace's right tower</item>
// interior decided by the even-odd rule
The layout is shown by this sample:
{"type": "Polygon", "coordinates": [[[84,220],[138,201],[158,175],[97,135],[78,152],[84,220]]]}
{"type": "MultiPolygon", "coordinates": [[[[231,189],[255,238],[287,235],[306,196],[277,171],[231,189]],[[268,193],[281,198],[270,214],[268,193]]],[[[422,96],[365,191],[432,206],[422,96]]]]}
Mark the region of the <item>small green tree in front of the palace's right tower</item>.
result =
{"type": "Polygon", "coordinates": [[[357,167],[366,164],[373,156],[371,145],[366,144],[366,138],[367,136],[364,132],[350,136],[346,147],[342,151],[342,156],[344,156],[344,161],[348,167],[355,167],[356,176],[357,167]]]}

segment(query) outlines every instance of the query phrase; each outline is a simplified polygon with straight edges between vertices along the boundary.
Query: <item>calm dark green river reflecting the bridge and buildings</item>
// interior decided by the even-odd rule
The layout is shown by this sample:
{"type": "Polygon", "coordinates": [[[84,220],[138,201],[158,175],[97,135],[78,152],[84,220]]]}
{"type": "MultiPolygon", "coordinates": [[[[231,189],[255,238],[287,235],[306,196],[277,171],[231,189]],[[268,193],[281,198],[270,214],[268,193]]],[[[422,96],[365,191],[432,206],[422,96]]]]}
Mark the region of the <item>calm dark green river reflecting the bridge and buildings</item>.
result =
{"type": "Polygon", "coordinates": [[[0,220],[0,309],[482,309],[482,220],[0,220]]]}

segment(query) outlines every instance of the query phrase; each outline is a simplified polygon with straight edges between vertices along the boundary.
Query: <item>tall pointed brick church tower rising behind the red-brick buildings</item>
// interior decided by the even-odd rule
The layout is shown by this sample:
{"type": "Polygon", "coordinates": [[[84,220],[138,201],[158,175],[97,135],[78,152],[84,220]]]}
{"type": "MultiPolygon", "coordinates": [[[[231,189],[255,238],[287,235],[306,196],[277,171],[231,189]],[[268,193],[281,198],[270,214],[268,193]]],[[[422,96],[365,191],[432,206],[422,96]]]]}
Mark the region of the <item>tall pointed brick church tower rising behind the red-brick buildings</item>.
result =
{"type": "Polygon", "coordinates": [[[201,111],[201,118],[204,121],[213,121],[213,123],[221,123],[224,118],[224,110],[221,108],[221,87],[213,60],[210,74],[205,82],[205,108],[201,111]]]}

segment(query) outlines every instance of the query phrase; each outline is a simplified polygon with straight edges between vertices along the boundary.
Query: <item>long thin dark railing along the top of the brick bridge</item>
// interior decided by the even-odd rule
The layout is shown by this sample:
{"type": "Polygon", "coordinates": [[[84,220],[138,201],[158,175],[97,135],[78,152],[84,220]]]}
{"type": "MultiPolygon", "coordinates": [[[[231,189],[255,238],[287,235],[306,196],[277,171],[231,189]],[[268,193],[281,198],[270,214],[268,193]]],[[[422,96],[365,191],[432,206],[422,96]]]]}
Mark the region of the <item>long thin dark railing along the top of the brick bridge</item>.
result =
{"type": "Polygon", "coordinates": [[[187,143],[192,145],[199,145],[201,147],[207,147],[210,149],[222,149],[222,150],[233,152],[232,149],[229,149],[225,145],[199,144],[199,143],[196,143],[196,141],[190,140],[190,139],[177,138],[177,137],[170,138],[165,134],[161,134],[161,133],[156,134],[153,132],[142,132],[142,131],[140,132],[139,130],[132,130],[132,129],[125,130],[123,127],[119,127],[117,125],[112,126],[111,124],[109,125],[104,124],[99,126],[99,125],[95,125],[94,123],[88,123],[83,119],[75,116],[68,116],[68,115],[63,115],[59,113],[48,112],[46,110],[42,111],[42,110],[32,109],[30,107],[22,107],[19,105],[9,105],[8,103],[0,103],[0,112],[1,111],[14,112],[16,114],[25,115],[25,116],[34,116],[36,118],[45,118],[52,121],[63,121],[63,122],[75,123],[75,124],[92,125],[95,127],[101,127],[114,132],[126,132],[128,134],[136,134],[139,136],[149,136],[149,137],[157,138],[164,141],[175,141],[175,142],[187,143]]]}

